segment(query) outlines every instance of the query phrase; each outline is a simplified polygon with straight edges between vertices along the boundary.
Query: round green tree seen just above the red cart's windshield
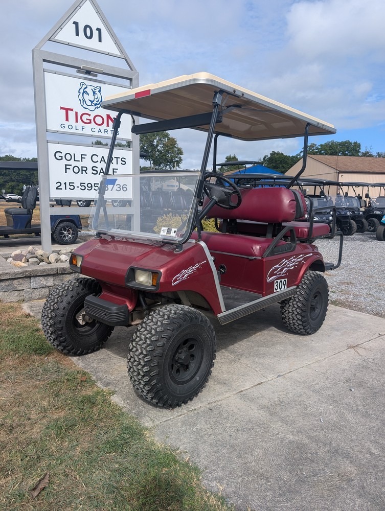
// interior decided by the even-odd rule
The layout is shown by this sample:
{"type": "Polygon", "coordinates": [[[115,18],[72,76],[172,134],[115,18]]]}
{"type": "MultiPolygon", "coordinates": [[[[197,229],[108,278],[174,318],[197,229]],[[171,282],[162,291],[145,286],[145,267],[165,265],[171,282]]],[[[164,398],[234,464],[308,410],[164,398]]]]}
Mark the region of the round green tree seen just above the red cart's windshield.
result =
{"type": "Polygon", "coordinates": [[[182,164],[183,150],[176,138],[167,131],[144,133],[139,138],[140,150],[146,154],[152,169],[179,169],[182,164]]]}

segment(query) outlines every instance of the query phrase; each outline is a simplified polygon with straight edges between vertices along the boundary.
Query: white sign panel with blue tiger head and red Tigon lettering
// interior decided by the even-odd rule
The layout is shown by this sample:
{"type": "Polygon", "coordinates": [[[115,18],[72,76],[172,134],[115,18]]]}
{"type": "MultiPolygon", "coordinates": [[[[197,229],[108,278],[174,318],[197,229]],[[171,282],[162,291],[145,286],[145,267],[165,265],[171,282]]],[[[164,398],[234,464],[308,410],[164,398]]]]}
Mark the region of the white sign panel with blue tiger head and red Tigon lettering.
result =
{"type": "MultiPolygon", "coordinates": [[[[108,137],[116,114],[101,108],[106,96],[129,87],[106,84],[89,77],[67,76],[44,70],[47,131],[108,137]]],[[[118,138],[131,140],[131,118],[123,115],[118,138]]]]}

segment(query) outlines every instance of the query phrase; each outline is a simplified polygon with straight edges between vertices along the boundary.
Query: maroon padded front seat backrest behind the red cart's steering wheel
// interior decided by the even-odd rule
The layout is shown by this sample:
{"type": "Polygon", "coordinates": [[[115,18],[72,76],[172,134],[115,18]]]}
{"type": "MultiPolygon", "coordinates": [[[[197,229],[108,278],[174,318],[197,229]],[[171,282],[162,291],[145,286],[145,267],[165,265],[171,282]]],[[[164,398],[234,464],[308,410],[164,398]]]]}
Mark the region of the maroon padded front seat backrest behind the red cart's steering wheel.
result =
{"type": "MultiPolygon", "coordinates": [[[[207,218],[250,220],[253,222],[292,222],[297,215],[297,201],[292,190],[280,187],[241,189],[242,202],[234,210],[215,205],[207,218]]],[[[205,203],[208,199],[205,199],[205,203]]],[[[203,203],[203,207],[205,206],[203,203]]]]}

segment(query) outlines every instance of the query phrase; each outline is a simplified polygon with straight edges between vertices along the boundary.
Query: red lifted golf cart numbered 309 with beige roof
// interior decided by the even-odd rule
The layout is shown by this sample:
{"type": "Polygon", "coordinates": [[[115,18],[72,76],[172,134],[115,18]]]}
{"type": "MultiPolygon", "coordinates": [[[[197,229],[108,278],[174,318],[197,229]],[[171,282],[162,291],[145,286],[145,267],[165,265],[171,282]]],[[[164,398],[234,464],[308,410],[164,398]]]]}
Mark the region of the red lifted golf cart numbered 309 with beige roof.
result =
{"type": "Polygon", "coordinates": [[[308,240],[331,236],[335,226],[297,222],[306,202],[291,182],[240,189],[218,174],[217,141],[223,135],[228,151],[229,137],[303,136],[306,162],[308,136],[335,133],[334,127],[207,73],[138,87],[107,98],[103,107],[119,112],[108,162],[121,116],[128,114],[155,119],[134,124],[135,134],[206,132],[201,167],[112,176],[107,163],[91,220],[96,235],[70,261],[79,276],[57,287],[43,307],[49,342],[66,354],[83,355],[99,350],[114,327],[135,327],[127,357],[131,382],[152,404],[175,407],[197,396],[211,374],[216,340],[208,313],[226,324],[280,304],[287,329],[300,335],[318,331],[328,286],[322,254],[308,240]],[[207,172],[211,148],[213,172],[207,172]],[[174,181],[193,190],[184,211],[172,202],[153,202],[156,190],[174,181]],[[131,201],[131,213],[106,207],[111,199],[131,201]],[[203,231],[206,218],[243,221],[248,231],[203,231]]]}

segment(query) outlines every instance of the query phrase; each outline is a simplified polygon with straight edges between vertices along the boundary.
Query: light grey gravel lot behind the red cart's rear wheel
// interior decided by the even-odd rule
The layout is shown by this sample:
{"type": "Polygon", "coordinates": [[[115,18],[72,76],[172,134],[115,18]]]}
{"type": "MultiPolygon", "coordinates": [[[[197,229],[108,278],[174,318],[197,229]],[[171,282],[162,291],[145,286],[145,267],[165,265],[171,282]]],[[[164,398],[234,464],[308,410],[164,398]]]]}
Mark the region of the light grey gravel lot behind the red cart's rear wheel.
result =
{"type": "MultiPolygon", "coordinates": [[[[316,240],[324,261],[336,263],[339,238],[316,240]]],[[[342,263],[325,273],[333,305],[385,318],[385,243],[375,233],[344,237],[342,263]]]]}

